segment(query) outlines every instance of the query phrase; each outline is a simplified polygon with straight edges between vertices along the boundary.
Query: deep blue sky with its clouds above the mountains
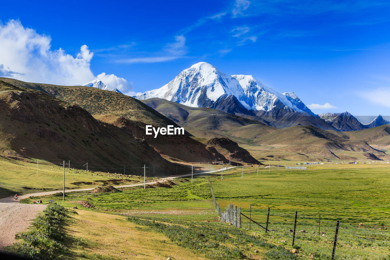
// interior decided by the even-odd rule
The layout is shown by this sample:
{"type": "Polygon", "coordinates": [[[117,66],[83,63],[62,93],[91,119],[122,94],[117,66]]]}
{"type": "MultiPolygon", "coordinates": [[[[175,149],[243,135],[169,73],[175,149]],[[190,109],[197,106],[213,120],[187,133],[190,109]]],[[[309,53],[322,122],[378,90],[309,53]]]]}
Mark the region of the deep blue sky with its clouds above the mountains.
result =
{"type": "Polygon", "coordinates": [[[315,113],[390,115],[389,13],[388,1],[7,1],[0,75],[99,75],[131,94],[206,61],[294,91],[315,113]]]}

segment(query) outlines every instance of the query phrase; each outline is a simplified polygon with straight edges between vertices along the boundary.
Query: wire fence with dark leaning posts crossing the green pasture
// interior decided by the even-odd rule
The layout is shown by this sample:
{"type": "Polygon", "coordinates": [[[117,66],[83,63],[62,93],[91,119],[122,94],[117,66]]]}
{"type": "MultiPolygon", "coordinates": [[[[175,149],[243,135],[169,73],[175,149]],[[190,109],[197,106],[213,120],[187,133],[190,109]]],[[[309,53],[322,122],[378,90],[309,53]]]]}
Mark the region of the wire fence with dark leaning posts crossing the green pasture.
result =
{"type": "MultiPolygon", "coordinates": [[[[209,181],[213,201],[219,208],[209,181]]],[[[229,205],[227,210],[232,207],[237,208],[229,205]]],[[[338,223],[321,219],[321,215],[313,218],[299,212],[270,210],[252,205],[250,208],[238,208],[240,215],[245,217],[240,218],[241,223],[236,227],[253,231],[273,244],[297,249],[310,259],[390,259],[390,230],[385,226],[338,223]]],[[[219,214],[220,211],[217,210],[219,214]]],[[[221,217],[221,222],[229,221],[221,217]]]]}

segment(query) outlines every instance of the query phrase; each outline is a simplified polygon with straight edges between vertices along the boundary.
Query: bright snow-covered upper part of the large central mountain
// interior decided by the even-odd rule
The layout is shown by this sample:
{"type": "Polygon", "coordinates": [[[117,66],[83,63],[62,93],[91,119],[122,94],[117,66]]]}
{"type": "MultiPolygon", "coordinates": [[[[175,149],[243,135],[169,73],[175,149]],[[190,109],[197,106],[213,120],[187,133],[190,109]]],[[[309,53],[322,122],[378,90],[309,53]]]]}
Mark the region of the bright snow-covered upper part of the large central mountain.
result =
{"type": "Polygon", "coordinates": [[[207,62],[184,69],[168,84],[136,98],[163,98],[191,107],[210,107],[221,96],[235,96],[248,110],[270,111],[280,101],[286,109],[313,114],[293,92],[278,93],[251,75],[227,75],[207,62]]]}

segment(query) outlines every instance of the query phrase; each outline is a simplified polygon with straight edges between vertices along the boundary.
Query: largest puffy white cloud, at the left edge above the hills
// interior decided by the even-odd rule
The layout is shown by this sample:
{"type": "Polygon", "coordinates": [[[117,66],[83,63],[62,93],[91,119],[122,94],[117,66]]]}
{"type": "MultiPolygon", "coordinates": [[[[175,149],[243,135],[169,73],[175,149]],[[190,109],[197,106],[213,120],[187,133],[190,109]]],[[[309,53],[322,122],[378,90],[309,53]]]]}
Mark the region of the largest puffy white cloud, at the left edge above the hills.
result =
{"type": "Polygon", "coordinates": [[[28,82],[76,85],[88,82],[93,52],[87,45],[73,57],[50,49],[51,37],[25,28],[20,21],[0,23],[0,75],[28,82]]]}

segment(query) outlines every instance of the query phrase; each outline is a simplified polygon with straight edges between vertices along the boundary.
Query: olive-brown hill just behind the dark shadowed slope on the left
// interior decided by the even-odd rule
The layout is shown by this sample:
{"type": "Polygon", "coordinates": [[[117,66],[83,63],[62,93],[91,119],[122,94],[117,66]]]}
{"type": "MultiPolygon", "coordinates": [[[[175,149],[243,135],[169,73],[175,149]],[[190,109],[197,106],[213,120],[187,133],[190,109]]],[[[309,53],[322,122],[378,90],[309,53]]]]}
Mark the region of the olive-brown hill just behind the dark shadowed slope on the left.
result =
{"type": "Polygon", "coordinates": [[[121,126],[129,134],[145,139],[165,158],[188,162],[212,162],[215,159],[223,159],[216,158],[213,153],[206,150],[204,144],[192,139],[188,132],[185,132],[185,135],[159,135],[157,138],[145,135],[145,125],[156,127],[167,127],[167,125],[178,127],[178,125],[151,107],[124,94],[94,87],[27,83],[11,78],[0,78],[0,80],[18,87],[42,91],[59,100],[78,105],[94,118],[121,126]],[[123,119],[127,120],[125,125],[121,125],[123,119]]]}

